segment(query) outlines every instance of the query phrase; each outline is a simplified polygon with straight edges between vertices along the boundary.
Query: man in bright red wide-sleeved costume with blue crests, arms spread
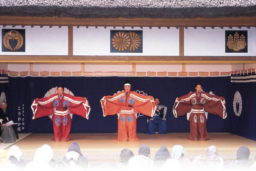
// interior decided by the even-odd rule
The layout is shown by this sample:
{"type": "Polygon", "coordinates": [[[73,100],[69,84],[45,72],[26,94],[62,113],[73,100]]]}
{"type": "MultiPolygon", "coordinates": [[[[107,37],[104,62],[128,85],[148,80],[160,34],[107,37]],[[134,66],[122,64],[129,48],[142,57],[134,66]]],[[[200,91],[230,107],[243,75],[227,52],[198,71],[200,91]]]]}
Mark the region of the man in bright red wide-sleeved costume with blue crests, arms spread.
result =
{"type": "Polygon", "coordinates": [[[64,93],[64,86],[57,86],[57,94],[50,97],[36,98],[31,105],[33,118],[52,115],[55,142],[68,141],[71,128],[71,114],[88,119],[90,106],[85,97],[75,97],[64,93]]]}

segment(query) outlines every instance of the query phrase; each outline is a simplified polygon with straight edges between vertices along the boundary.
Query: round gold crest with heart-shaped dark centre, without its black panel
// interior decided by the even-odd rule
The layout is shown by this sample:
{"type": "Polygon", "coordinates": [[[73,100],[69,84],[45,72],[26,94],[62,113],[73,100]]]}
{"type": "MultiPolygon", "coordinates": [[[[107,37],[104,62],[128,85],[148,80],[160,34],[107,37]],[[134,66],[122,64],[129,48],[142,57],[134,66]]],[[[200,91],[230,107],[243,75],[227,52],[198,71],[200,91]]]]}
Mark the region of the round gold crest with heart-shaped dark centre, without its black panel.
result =
{"type": "Polygon", "coordinates": [[[4,39],[3,39],[3,43],[4,43],[4,46],[5,48],[9,49],[9,50],[18,50],[19,48],[22,47],[23,45],[23,36],[21,35],[20,32],[18,32],[17,30],[11,30],[11,31],[8,31],[7,33],[5,33],[4,35],[4,39]],[[10,40],[17,40],[17,45],[15,48],[12,48],[9,41],[10,40]]]}

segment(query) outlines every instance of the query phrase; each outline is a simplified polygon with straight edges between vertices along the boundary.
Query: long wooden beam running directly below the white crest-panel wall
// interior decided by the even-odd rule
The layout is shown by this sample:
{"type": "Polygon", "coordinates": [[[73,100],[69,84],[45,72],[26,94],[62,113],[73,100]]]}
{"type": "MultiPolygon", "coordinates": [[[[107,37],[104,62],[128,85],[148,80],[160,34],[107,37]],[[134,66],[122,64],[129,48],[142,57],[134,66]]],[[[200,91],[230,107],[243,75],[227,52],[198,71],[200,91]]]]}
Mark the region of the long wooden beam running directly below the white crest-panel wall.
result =
{"type": "Polygon", "coordinates": [[[0,55],[20,63],[256,63],[256,56],[35,56],[0,55]]]}

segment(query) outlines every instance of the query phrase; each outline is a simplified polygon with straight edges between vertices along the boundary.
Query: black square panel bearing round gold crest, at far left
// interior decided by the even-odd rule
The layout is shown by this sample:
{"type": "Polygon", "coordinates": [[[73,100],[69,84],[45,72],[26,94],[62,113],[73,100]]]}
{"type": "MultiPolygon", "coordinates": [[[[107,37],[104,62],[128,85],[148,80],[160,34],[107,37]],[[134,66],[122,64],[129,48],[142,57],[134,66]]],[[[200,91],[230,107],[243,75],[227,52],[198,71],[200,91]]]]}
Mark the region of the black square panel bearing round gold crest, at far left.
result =
{"type": "Polygon", "coordinates": [[[25,52],[25,29],[2,29],[2,52],[25,52]]]}

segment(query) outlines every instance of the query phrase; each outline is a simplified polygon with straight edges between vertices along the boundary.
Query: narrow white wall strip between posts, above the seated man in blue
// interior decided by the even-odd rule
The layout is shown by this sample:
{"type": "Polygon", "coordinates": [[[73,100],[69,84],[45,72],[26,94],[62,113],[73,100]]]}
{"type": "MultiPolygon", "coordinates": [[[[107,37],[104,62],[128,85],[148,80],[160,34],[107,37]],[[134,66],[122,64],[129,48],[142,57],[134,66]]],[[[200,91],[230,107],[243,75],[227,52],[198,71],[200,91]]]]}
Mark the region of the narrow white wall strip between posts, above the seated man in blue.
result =
{"type": "Polygon", "coordinates": [[[181,72],[182,64],[181,63],[137,63],[136,64],[137,72],[181,72]]]}

